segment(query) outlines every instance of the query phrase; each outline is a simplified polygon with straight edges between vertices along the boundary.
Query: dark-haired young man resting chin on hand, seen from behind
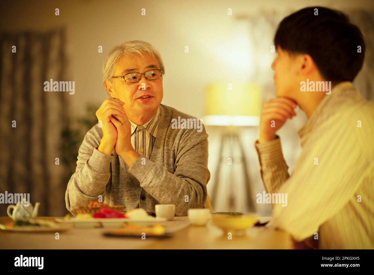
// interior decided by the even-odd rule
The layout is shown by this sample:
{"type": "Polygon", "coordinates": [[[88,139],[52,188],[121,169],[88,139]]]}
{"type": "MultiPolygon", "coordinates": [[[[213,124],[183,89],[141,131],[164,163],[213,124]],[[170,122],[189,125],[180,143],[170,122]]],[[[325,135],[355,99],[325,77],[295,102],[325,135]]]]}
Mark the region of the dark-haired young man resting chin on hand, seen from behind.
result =
{"type": "Polygon", "coordinates": [[[342,12],[307,7],[281,21],[274,42],[277,98],[264,104],[255,143],[267,192],[288,198],[272,204],[274,225],[319,248],[374,248],[374,103],[352,86],[362,33],[342,12]],[[289,175],[276,132],[296,106],[308,120],[289,175]]]}

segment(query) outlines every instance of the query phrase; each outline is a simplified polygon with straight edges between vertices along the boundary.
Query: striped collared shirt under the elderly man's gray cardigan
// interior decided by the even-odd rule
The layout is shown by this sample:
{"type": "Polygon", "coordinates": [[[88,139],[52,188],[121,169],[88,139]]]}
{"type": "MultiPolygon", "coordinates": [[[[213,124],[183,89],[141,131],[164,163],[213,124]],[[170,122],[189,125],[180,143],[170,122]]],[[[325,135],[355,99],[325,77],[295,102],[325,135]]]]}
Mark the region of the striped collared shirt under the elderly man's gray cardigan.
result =
{"type": "Polygon", "coordinates": [[[157,136],[161,118],[161,106],[156,114],[143,125],[137,125],[131,120],[131,144],[139,154],[144,154],[148,159],[151,158],[152,148],[157,136]]]}

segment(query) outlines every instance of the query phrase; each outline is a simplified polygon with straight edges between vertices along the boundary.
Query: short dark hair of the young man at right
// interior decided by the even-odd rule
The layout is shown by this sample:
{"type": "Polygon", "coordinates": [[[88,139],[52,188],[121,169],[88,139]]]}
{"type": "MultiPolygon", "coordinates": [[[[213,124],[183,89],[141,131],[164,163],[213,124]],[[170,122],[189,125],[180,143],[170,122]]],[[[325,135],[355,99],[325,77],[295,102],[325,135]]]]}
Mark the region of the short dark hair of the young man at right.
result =
{"type": "Polygon", "coordinates": [[[364,63],[365,41],[359,28],[343,12],[326,7],[306,7],[284,18],[274,43],[291,54],[309,54],[321,75],[334,83],[352,82],[364,63]]]}

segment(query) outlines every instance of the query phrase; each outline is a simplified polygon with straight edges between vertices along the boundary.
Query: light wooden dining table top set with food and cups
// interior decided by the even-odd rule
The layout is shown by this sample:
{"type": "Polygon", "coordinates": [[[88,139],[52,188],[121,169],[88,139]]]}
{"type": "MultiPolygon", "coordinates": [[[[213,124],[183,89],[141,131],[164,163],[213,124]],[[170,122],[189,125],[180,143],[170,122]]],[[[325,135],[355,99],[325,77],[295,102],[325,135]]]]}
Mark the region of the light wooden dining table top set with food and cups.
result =
{"type": "MultiPolygon", "coordinates": [[[[55,220],[56,217],[38,217],[55,220]]],[[[63,218],[63,217],[60,217],[63,218]]],[[[10,222],[0,217],[0,223],[10,222]]],[[[287,232],[272,226],[272,217],[260,217],[266,226],[253,226],[243,235],[230,239],[210,220],[206,226],[193,226],[188,217],[174,217],[163,222],[175,232],[168,238],[106,237],[108,228],[71,228],[58,232],[7,232],[0,230],[0,249],[292,249],[294,244],[287,232]]]]}

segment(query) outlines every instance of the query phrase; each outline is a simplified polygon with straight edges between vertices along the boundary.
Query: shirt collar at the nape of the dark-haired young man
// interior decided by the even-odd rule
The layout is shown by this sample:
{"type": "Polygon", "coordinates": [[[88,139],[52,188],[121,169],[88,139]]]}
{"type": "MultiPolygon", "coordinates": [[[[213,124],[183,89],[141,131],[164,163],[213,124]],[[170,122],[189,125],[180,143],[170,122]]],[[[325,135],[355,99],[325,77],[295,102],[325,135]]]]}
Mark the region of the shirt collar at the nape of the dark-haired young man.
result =
{"type": "Polygon", "coordinates": [[[332,112],[326,112],[326,110],[330,109],[330,105],[331,103],[334,103],[335,99],[342,96],[342,94],[346,96],[356,96],[356,93],[359,92],[353,87],[352,83],[350,81],[344,81],[338,83],[331,90],[330,95],[325,95],[324,99],[322,99],[322,101],[318,104],[317,108],[306,121],[304,126],[301,127],[297,132],[299,138],[301,139],[301,145],[303,145],[303,140],[305,139],[304,137],[308,136],[313,127],[316,126],[316,123],[321,120],[324,121],[329,115],[332,114],[332,112]]]}

